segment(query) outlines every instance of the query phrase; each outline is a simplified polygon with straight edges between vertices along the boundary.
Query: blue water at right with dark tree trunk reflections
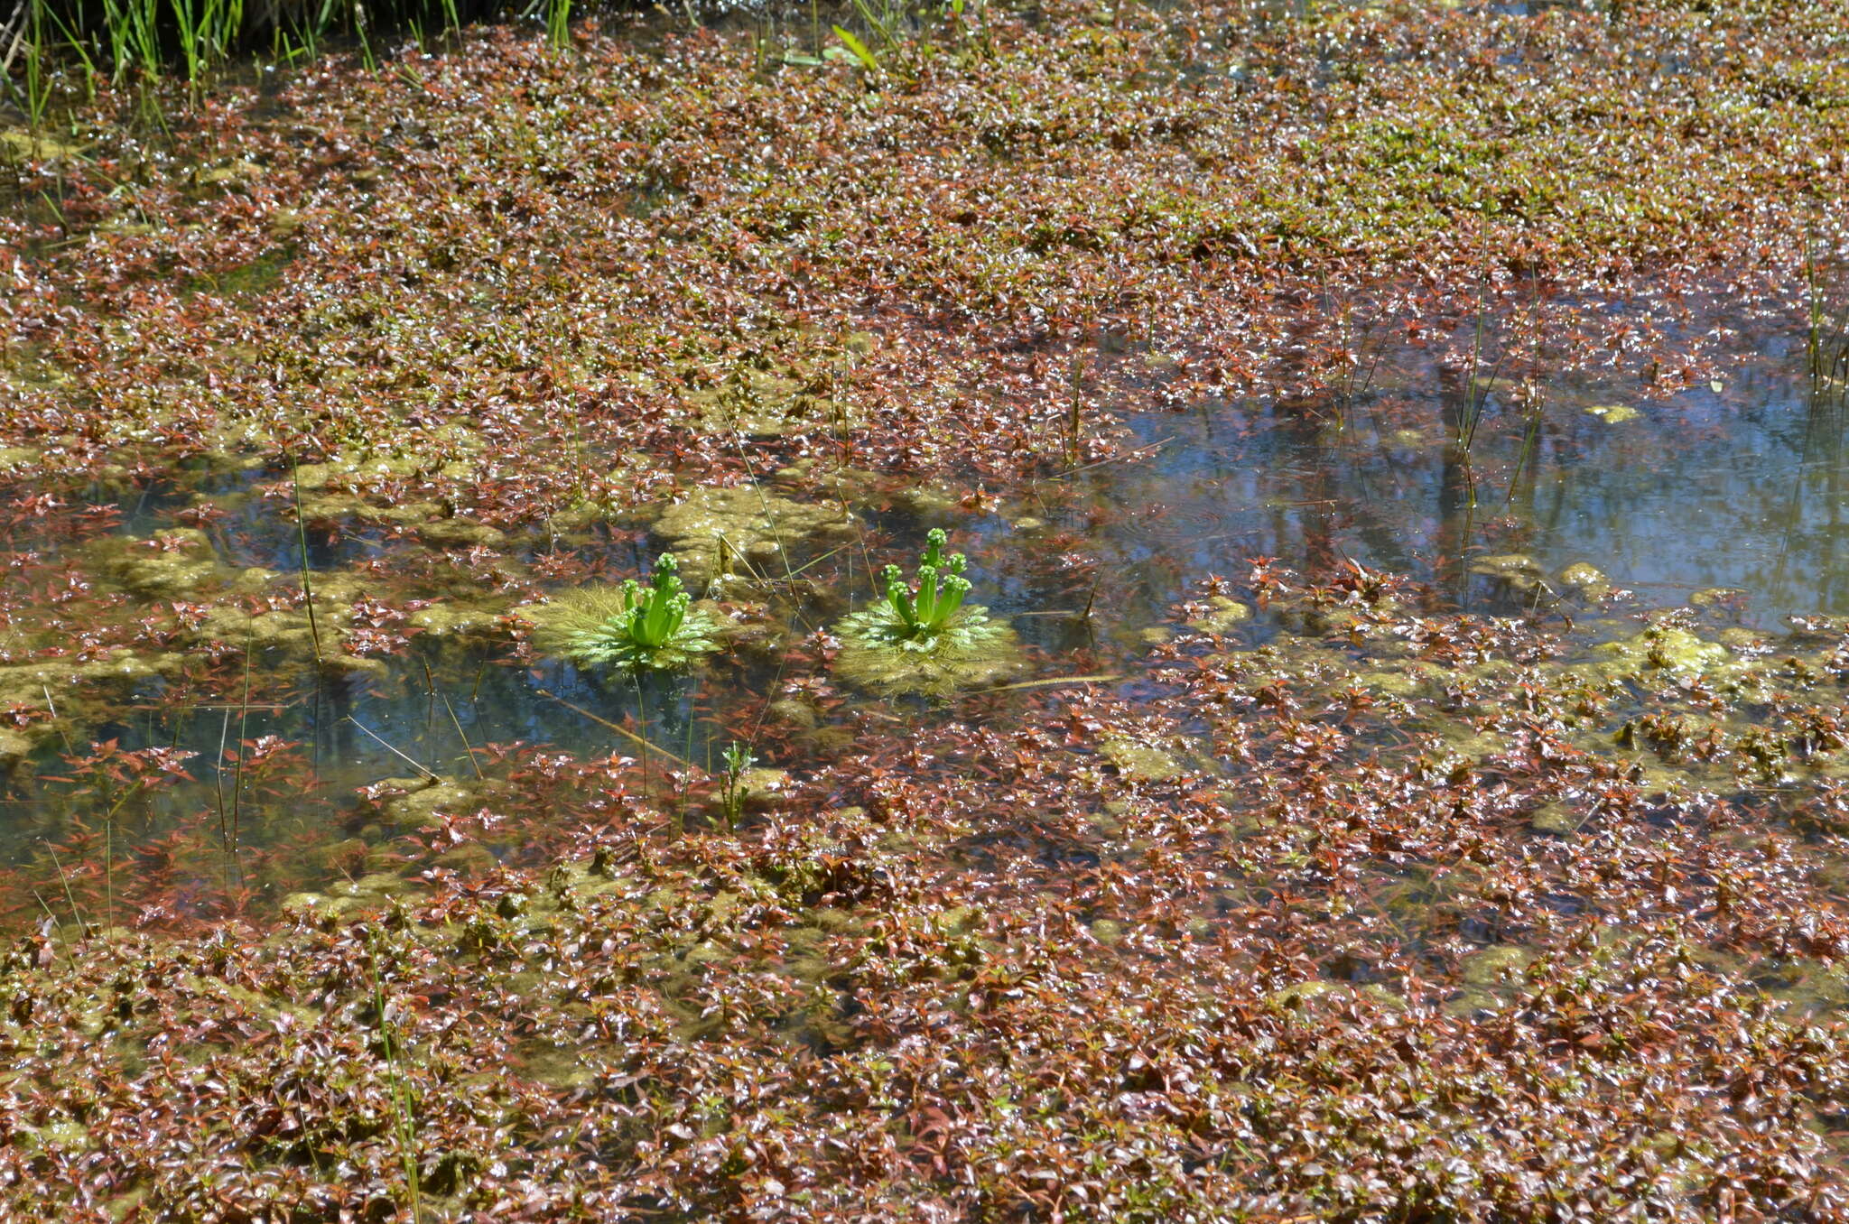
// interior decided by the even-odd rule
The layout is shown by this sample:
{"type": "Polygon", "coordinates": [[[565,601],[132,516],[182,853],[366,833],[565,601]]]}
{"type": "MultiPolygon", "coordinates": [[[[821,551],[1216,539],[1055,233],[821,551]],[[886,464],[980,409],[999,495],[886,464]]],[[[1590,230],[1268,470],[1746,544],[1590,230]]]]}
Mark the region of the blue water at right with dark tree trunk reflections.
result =
{"type": "Polygon", "coordinates": [[[1840,388],[1812,386],[1801,353],[1755,355],[1673,396],[1562,377],[1533,418],[1492,390],[1468,453],[1455,442],[1468,399],[1457,373],[1407,359],[1385,381],[1344,412],[1206,403],[1137,416],[1139,444],[1157,449],[1084,477],[1100,568],[1157,595],[1241,573],[1254,555],[1307,571],[1353,558],[1487,610],[1472,558],[1522,553],[1548,573],[1590,562],[1646,603],[1742,588],[1766,627],[1849,614],[1849,414],[1840,388]]]}

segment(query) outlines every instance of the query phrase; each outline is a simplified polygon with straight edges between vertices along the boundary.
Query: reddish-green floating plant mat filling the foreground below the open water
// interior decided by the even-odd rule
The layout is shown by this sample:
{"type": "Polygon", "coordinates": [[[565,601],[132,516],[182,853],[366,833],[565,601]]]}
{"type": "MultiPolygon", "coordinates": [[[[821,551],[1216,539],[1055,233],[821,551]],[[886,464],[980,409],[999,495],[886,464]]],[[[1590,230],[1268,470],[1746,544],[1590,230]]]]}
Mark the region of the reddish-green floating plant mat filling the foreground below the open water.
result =
{"type": "Polygon", "coordinates": [[[736,825],[679,767],[505,747],[383,789],[399,863],[344,847],[279,924],[133,932],[152,862],[70,876],[85,923],[22,926],[0,980],[0,1200],[1849,1207],[1849,627],[1653,658],[1387,575],[1235,594],[1346,619],[1182,632],[1137,701],[919,721],[736,825]]]}

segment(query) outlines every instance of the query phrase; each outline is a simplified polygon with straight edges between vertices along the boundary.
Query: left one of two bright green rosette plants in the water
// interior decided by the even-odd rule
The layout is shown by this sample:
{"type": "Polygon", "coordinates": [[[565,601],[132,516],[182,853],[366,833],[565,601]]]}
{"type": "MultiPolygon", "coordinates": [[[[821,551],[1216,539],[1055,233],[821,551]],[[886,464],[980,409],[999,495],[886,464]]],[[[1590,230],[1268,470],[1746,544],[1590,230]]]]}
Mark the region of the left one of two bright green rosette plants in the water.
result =
{"type": "Polygon", "coordinates": [[[579,667],[686,667],[719,649],[719,625],[692,608],[673,555],[655,562],[649,586],[634,579],[621,586],[566,592],[533,608],[533,642],[579,667]]]}

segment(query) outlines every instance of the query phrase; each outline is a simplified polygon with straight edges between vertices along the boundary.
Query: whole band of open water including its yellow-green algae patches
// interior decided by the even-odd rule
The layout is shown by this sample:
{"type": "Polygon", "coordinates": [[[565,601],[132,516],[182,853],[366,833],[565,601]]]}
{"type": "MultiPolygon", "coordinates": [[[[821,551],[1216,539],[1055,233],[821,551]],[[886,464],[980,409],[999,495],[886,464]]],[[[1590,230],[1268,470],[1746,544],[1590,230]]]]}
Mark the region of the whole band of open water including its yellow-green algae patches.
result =
{"type": "MultiPolygon", "coordinates": [[[[688,499],[666,520],[597,521],[564,536],[433,516],[435,503],[373,505],[327,481],[307,483],[311,521],[298,531],[292,497],[263,496],[287,475],[222,464],[129,494],[98,490],[98,503],[116,514],[113,540],[172,536],[170,549],[150,551],[153,560],[211,569],[203,597],[235,621],[235,632],[213,630],[229,647],[213,664],[216,675],[183,673],[174,662],[185,651],[211,655],[211,642],[170,643],[174,666],[133,692],[92,701],[70,727],[76,740],[39,736],[39,777],[26,771],[15,780],[0,851],[13,862],[46,860],[43,880],[57,878],[54,847],[63,858],[91,854],[98,812],[85,791],[70,789],[76,782],[54,780],[68,778],[67,758],[83,758],[85,741],[168,753],[187,773],[168,775],[104,821],[104,841],[118,847],[104,862],[113,854],[146,862],[150,847],[187,832],[198,845],[237,847],[231,862],[274,847],[312,863],[320,849],[355,834],[373,847],[368,854],[398,852],[385,847],[418,828],[409,817],[373,819],[377,804],[357,799],[370,788],[409,780],[423,799],[475,804],[470,786],[477,765],[492,769],[490,745],[631,756],[658,765],[658,777],[677,769],[706,777],[732,741],[751,743],[773,767],[804,771],[839,760],[863,734],[902,736],[906,727],[958,717],[1006,727],[1010,710],[1028,699],[1010,688],[1017,682],[1080,677],[1132,708],[1156,708],[1165,688],[1145,660],[1183,629],[1182,619],[1211,621],[1230,643],[1281,632],[1316,638],[1335,623],[1248,614],[1224,597],[1176,616],[1182,601],[1200,599],[1202,579],[1239,579],[1254,557],[1274,557],[1311,581],[1353,566],[1403,573],[1418,584],[1407,599],[1426,612],[1512,616],[1546,605],[1564,606],[1581,627],[1603,612],[1598,575],[1636,595],[1612,605],[1620,614],[1692,599],[1710,629],[1729,619],[1773,627],[1786,612],[1849,612],[1840,388],[1818,394],[1801,351],[1777,333],[1744,335],[1733,355],[1723,377],[1673,396],[1653,396],[1635,379],[1573,373],[1538,379],[1542,394],[1516,401],[1514,388],[1494,381],[1474,396],[1459,370],[1402,346],[1381,357],[1365,392],[1339,401],[1204,398],[1183,410],[1126,409],[1128,436],[1109,459],[993,494],[954,484],[882,492],[869,483],[847,510],[788,497],[802,496],[801,483],[782,492],[738,486],[688,499]],[[1466,453],[1459,436],[1476,418],[1466,453]],[[784,531],[802,527],[802,514],[819,516],[823,529],[784,531]],[[433,538],[433,527],[446,525],[483,534],[433,538]],[[817,630],[838,629],[845,612],[865,606],[878,564],[915,553],[936,525],[969,551],[973,601],[1019,638],[1024,656],[1006,677],[997,673],[1004,692],[974,703],[856,695],[830,667],[817,630]],[[708,540],[719,529],[725,557],[708,540]],[[510,630],[497,627],[534,592],[640,573],[660,545],[701,560],[706,579],[732,571],[738,582],[727,597],[753,608],[749,649],[734,642],[730,660],[686,677],[634,679],[531,666],[510,630]],[[560,569],[558,558],[569,566],[560,569]],[[324,614],[362,610],[390,621],[399,605],[435,599],[409,614],[407,623],[425,632],[396,655],[342,653],[335,673],[316,680],[301,627],[290,619],[300,619],[292,592],[303,560],[324,614]],[[490,584],[499,584],[492,595],[490,584]],[[1555,594],[1564,603],[1553,605],[1555,594]],[[251,616],[287,621],[298,640],[288,651],[251,655],[253,697],[242,701],[237,669],[242,645],[253,642],[244,632],[251,616]],[[253,756],[270,769],[255,782],[244,773],[253,756]],[[255,789],[240,789],[246,784],[255,789]]],[[[1115,351],[1096,361],[1128,366],[1143,357],[1115,351]]],[[[157,584],[129,573],[116,557],[122,547],[72,549],[128,601],[113,618],[126,623],[190,597],[185,575],[157,584]]],[[[152,564],[141,551],[126,557],[152,564]]],[[[342,630],[361,619],[342,621],[342,630]]],[[[1635,630],[1620,616],[1594,632],[1635,630]]],[[[1294,658],[1281,656],[1278,667],[1287,671],[1294,658]]],[[[1315,664],[1333,666],[1320,656],[1315,664]]],[[[1357,684],[1376,699],[1420,697],[1429,677],[1403,664],[1368,662],[1357,684]]],[[[1202,756],[1183,740],[1161,753],[1211,765],[1211,753],[1202,756]]],[[[1109,743],[1117,756],[1104,753],[1106,767],[1161,773],[1148,769],[1154,758],[1126,754],[1124,745],[1137,749],[1141,740],[1109,743]]],[[[312,867],[274,880],[300,880],[303,871],[312,867]]],[[[224,863],[194,863],[192,873],[205,887],[224,863]]]]}

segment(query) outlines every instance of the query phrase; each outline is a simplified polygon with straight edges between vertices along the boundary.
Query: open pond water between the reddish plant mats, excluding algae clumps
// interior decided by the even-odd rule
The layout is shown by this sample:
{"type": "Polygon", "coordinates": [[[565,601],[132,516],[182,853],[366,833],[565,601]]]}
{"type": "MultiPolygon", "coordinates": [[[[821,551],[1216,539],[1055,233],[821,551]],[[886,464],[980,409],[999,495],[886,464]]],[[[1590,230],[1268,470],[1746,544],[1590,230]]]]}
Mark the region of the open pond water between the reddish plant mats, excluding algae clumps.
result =
{"type": "MultiPolygon", "coordinates": [[[[1113,348],[1091,359],[1117,375],[1126,399],[1146,399],[1163,359],[1113,348]]],[[[1635,379],[1562,373],[1546,379],[1538,410],[1524,412],[1496,383],[1472,398],[1455,368],[1400,346],[1381,351],[1365,390],[1341,401],[1113,405],[1128,431],[1115,455],[1017,496],[971,505],[919,497],[897,483],[867,494],[856,520],[863,527],[845,545],[791,540],[795,551],[777,564],[790,592],[804,586],[810,595],[786,592],[760,616],[786,645],[802,640],[867,597],[873,549],[904,555],[934,523],[952,527],[969,549],[973,599],[1030,647],[1028,684],[1082,677],[1132,703],[1152,692],[1141,660],[1174,630],[1174,608],[1209,575],[1243,575],[1261,557],[1311,579],[1348,562],[1407,575],[1427,612],[1577,621],[1586,643],[1635,632],[1647,610],[1690,597],[1714,623],[1766,630],[1788,614],[1849,612],[1840,388],[1814,386],[1803,353],[1779,331],[1740,335],[1721,364],[1725,373],[1668,396],[1635,379]],[[1457,436],[1468,403],[1481,405],[1481,418],[1466,455],[1457,436]],[[1596,566],[1616,594],[1575,590],[1559,577],[1573,564],[1596,566]]],[[[96,488],[92,497],[115,512],[113,532],[128,547],[205,523],[196,538],[222,573],[287,582],[305,569],[322,588],[361,575],[370,590],[410,595],[453,594],[468,573],[470,562],[451,553],[447,564],[462,569],[431,577],[433,555],[466,540],[433,542],[392,521],[312,510],[311,527],[298,531],[300,494],[277,496],[290,481],[261,466],[202,468],[96,488]],[[407,588],[420,571],[423,586],[407,588]]],[[[314,490],[309,496],[318,505],[314,490]]],[[[55,531],[39,544],[55,549],[55,531]]],[[[619,527],[569,542],[497,544],[494,555],[516,568],[568,555],[612,577],[645,568],[655,547],[645,531],[619,527]]],[[[226,826],[227,788],[240,784],[239,741],[290,745],[292,773],[288,799],[253,799],[235,841],[300,851],[362,823],[349,815],[357,788],[470,778],[490,745],[655,753],[662,769],[710,773],[727,743],[749,741],[775,745],[771,764],[801,769],[852,743],[869,714],[891,717],[880,714],[888,703],[847,693],[827,710],[797,710],[801,727],[778,732],[773,712],[788,717],[791,706],[778,699],[791,675],[775,647],[756,662],[640,684],[521,662],[505,632],[492,630],[508,605],[490,601],[483,632],[425,636],[348,675],[318,675],[298,642],[294,656],[253,655],[253,677],[237,699],[224,697],[224,675],[218,699],[150,677],[92,708],[89,734],[98,741],[194,754],[192,780],[150,804],[128,839],[172,821],[226,826]]],[[[1278,630],[1263,612],[1231,629],[1250,643],[1278,630]]],[[[991,716],[1008,706],[1006,695],[1000,701],[991,716]]],[[[954,714],[919,699],[900,708],[906,719],[954,714]]],[[[43,743],[41,780],[15,780],[15,817],[0,836],[15,860],[43,858],[65,819],[81,815],[83,801],[72,802],[57,780],[70,753],[76,745],[43,743]]]]}

